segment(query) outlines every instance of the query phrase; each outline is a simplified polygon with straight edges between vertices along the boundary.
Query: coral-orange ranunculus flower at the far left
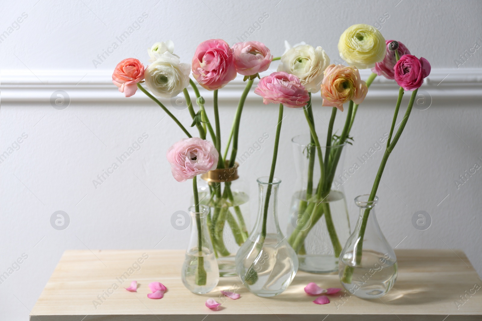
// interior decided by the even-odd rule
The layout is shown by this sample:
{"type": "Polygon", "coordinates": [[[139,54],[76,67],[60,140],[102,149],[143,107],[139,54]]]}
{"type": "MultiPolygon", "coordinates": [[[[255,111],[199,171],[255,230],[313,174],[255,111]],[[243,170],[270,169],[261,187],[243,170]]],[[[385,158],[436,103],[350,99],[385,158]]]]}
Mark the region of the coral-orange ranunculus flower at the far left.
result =
{"type": "Polygon", "coordinates": [[[144,65],[135,58],[127,58],[117,64],[112,74],[112,82],[126,97],[137,90],[137,83],[144,79],[144,65]]]}

